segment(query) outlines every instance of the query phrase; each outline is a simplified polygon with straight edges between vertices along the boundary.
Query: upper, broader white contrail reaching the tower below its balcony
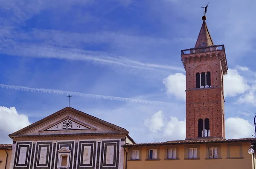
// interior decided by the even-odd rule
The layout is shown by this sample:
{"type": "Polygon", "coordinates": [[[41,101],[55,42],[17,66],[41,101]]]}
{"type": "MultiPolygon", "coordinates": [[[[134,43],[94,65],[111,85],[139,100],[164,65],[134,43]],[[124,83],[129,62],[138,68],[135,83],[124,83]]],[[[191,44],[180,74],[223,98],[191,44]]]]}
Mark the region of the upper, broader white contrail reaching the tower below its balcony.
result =
{"type": "Polygon", "coordinates": [[[23,42],[22,45],[12,39],[0,40],[0,53],[13,56],[25,56],[35,58],[55,58],[66,60],[82,60],[95,62],[108,66],[119,66],[131,69],[149,70],[169,74],[169,70],[182,71],[182,67],[143,63],[131,60],[123,56],[116,56],[101,51],[87,51],[76,48],[61,48],[46,45],[35,45],[23,42]]]}

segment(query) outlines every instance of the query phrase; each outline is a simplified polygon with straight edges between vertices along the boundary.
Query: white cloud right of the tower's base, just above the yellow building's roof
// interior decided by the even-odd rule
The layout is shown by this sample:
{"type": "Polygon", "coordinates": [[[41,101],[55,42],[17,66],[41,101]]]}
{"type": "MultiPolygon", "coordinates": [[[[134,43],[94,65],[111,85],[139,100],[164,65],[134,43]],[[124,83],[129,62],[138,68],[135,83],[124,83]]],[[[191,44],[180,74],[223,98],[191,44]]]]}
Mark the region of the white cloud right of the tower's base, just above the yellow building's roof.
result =
{"type": "Polygon", "coordinates": [[[239,117],[230,117],[225,120],[226,139],[247,138],[254,135],[253,124],[239,117]]]}

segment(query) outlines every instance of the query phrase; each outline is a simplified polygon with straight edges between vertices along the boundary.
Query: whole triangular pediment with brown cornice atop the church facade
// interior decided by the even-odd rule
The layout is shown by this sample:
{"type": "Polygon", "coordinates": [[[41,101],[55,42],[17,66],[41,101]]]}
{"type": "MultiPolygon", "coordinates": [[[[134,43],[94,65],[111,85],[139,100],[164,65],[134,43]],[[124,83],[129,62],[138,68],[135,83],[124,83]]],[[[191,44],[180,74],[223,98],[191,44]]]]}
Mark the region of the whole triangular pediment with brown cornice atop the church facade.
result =
{"type": "Polygon", "coordinates": [[[59,110],[17,132],[11,138],[128,135],[122,127],[71,107],[59,110]]]}

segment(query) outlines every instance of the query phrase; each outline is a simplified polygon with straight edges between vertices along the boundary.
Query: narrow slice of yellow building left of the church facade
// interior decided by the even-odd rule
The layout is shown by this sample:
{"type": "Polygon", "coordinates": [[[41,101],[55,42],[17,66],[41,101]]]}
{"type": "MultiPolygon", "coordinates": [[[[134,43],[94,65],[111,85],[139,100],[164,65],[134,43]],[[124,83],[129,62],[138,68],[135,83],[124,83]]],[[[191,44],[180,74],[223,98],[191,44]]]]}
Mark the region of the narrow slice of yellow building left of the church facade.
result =
{"type": "Polygon", "coordinates": [[[0,169],[9,169],[12,144],[0,144],[0,169]]]}

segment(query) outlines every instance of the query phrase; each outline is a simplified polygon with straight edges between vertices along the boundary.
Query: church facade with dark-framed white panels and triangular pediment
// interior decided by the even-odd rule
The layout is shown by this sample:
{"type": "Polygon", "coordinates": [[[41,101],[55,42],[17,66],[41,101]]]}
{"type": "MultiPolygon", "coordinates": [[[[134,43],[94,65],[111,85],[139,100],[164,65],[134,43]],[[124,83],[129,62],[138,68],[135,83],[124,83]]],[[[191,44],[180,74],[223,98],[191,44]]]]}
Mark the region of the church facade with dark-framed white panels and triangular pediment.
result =
{"type": "Polygon", "coordinates": [[[123,169],[128,131],[66,107],[13,134],[9,169],[123,169]]]}

